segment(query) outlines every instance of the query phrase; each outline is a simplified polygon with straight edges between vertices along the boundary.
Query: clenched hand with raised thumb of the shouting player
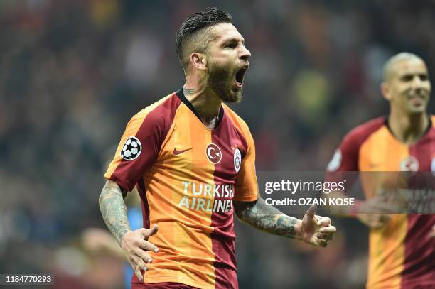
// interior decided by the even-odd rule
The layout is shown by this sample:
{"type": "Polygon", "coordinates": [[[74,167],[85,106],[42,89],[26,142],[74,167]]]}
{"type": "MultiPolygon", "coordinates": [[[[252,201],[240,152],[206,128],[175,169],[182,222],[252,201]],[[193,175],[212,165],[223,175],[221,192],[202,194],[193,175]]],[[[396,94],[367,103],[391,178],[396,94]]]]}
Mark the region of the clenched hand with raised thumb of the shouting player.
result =
{"type": "Polygon", "coordinates": [[[331,226],[331,219],[316,215],[317,206],[309,207],[301,222],[301,239],[313,246],[328,246],[337,229],[331,226]]]}

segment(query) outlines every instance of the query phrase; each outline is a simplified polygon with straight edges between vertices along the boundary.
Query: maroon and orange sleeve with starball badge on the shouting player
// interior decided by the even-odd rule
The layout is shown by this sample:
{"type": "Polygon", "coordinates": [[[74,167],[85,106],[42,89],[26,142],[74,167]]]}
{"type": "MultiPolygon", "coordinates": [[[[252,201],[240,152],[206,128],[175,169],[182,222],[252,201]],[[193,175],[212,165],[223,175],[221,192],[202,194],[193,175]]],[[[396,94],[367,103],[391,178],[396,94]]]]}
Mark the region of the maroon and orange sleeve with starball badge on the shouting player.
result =
{"type": "Polygon", "coordinates": [[[156,162],[161,148],[164,119],[144,109],[131,118],[119,142],[114,159],[104,178],[113,180],[124,190],[133,190],[136,182],[156,162]]]}

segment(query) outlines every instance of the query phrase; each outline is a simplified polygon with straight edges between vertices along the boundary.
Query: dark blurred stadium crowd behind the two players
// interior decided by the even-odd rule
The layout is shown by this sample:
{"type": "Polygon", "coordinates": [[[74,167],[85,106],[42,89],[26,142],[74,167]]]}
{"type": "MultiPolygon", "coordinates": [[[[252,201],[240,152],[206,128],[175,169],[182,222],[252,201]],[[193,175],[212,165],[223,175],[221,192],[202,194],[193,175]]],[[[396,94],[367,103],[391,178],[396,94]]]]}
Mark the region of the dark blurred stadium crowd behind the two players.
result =
{"type": "MultiPolygon", "coordinates": [[[[82,249],[103,227],[102,173],[129,118],[181,88],[184,18],[232,13],[252,53],[232,107],[257,145],[257,170],[323,170],[344,133],[387,113],[382,64],[435,65],[434,1],[0,1],[0,273],[58,273],[67,288],[122,286],[121,267],[82,249]]],[[[431,105],[433,107],[433,105],[431,105]]],[[[362,288],[367,231],[308,249],[237,222],[241,288],[362,288]]]]}

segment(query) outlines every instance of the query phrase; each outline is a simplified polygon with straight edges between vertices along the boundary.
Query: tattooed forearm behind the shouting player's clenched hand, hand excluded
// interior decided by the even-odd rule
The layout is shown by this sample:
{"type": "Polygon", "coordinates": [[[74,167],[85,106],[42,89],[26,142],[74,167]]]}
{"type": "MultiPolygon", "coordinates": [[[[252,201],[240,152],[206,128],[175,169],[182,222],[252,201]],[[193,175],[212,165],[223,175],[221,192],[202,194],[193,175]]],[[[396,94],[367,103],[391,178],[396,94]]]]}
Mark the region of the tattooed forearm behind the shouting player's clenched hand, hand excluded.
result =
{"type": "Polygon", "coordinates": [[[286,216],[278,209],[269,206],[262,198],[254,202],[233,201],[237,217],[252,227],[271,234],[294,238],[298,219],[286,216]]]}

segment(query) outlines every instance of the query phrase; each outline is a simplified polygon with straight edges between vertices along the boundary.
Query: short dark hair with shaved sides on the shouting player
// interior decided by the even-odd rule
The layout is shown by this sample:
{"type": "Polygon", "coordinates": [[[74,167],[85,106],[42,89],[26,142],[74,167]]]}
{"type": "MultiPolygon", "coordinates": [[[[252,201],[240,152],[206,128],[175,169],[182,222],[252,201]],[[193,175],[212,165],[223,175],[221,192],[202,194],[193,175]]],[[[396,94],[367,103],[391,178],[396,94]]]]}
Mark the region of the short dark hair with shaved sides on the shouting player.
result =
{"type": "MultiPolygon", "coordinates": [[[[216,7],[206,8],[204,11],[193,13],[180,26],[176,35],[176,53],[178,59],[186,69],[188,59],[186,58],[186,44],[195,40],[196,36],[203,34],[206,28],[219,23],[232,23],[232,16],[226,11],[216,7]]],[[[195,41],[195,50],[204,53],[207,48],[205,41],[195,41]]]]}

